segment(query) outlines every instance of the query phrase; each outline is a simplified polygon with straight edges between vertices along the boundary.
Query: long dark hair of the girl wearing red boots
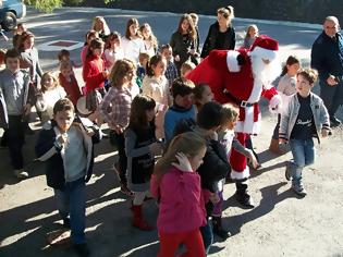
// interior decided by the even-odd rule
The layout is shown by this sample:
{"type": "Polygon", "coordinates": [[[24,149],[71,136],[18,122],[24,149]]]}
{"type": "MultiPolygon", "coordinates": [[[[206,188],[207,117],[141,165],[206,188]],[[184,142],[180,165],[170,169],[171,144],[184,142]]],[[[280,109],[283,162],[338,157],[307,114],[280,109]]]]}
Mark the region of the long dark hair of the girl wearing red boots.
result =
{"type": "MultiPolygon", "coordinates": [[[[143,94],[137,95],[131,103],[131,114],[128,127],[132,127],[135,132],[140,133],[148,127],[148,120],[146,111],[155,109],[156,101],[143,94]]],[[[155,122],[151,122],[154,124],[155,122]]]]}

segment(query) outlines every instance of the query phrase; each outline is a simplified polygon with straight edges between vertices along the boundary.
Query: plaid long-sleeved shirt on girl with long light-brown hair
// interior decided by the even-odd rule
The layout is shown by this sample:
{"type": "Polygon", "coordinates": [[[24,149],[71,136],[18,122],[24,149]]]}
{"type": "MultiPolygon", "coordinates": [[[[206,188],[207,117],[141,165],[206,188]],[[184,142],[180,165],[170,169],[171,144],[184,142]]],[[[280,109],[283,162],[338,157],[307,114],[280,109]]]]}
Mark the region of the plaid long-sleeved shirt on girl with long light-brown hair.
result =
{"type": "Polygon", "coordinates": [[[111,130],[126,128],[130,121],[133,96],[128,88],[111,87],[100,103],[100,113],[111,130]]]}

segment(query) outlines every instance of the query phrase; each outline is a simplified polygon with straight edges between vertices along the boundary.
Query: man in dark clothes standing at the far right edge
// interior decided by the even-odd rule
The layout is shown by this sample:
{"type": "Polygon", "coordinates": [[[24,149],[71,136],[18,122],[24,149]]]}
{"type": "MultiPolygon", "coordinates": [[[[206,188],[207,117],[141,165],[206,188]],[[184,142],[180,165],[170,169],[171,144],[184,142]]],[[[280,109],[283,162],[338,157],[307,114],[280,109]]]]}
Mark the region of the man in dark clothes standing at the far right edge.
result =
{"type": "Polygon", "coordinates": [[[335,16],[326,17],[323,32],[311,49],[311,68],[318,70],[320,97],[328,109],[331,126],[342,123],[334,115],[343,105],[343,37],[340,29],[335,16]]]}

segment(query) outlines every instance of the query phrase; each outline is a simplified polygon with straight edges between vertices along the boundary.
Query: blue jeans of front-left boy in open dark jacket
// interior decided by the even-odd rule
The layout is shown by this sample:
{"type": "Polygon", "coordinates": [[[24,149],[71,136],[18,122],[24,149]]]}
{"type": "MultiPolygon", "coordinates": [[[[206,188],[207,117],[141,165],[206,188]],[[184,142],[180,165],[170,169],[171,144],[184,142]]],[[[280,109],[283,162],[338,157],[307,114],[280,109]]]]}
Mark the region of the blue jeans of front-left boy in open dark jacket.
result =
{"type": "Polygon", "coordinates": [[[65,183],[63,189],[54,189],[59,213],[62,219],[71,217],[71,236],[75,244],[86,242],[86,191],[85,179],[65,183]]]}

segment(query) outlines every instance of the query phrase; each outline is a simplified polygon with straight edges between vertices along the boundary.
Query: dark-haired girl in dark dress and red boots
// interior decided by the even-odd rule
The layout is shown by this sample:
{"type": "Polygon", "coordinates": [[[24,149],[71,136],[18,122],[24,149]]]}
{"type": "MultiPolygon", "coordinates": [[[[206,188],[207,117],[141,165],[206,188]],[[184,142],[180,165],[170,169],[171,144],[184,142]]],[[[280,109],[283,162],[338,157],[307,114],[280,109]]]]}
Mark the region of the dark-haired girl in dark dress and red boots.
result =
{"type": "Polygon", "coordinates": [[[151,97],[138,95],[131,105],[130,123],[125,131],[128,188],[135,193],[131,207],[133,227],[152,230],[142,213],[144,198],[149,195],[149,181],[154,171],[155,156],[160,155],[162,145],[155,136],[155,107],[151,97]]]}

